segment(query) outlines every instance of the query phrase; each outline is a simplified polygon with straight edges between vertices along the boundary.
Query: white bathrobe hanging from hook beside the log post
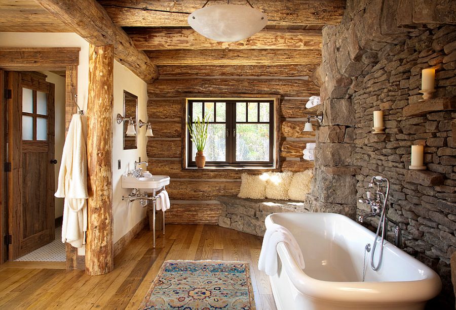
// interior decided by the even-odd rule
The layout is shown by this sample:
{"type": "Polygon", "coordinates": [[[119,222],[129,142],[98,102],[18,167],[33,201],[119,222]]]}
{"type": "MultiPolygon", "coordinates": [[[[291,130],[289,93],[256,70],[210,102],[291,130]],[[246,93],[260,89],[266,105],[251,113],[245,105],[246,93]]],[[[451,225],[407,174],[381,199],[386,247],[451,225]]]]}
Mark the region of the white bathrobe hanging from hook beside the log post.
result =
{"type": "Polygon", "coordinates": [[[62,242],[80,248],[87,231],[87,152],[86,133],[80,114],[74,114],[68,128],[60,164],[55,197],[65,198],[62,242]]]}

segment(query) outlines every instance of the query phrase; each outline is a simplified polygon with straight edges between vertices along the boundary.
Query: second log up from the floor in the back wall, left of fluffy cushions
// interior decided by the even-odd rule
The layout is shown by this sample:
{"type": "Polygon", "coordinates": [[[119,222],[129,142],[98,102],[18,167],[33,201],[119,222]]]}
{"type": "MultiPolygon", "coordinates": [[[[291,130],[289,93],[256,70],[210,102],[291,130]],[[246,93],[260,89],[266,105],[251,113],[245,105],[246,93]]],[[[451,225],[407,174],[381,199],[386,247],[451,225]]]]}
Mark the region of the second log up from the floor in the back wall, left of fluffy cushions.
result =
{"type": "Polygon", "coordinates": [[[171,200],[214,200],[221,193],[223,195],[237,195],[240,187],[240,181],[171,180],[166,191],[171,200]]]}

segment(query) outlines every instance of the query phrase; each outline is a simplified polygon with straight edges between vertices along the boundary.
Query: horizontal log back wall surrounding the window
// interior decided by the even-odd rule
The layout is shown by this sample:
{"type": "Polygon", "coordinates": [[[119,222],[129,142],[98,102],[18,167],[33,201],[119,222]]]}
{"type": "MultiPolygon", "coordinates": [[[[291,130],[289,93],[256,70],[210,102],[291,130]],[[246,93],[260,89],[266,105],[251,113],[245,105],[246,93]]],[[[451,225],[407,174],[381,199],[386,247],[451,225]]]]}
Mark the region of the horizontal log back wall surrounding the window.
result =
{"type": "MultiPolygon", "coordinates": [[[[220,50],[219,50],[220,51],[220,50]]],[[[165,53],[162,51],[162,53],[165,53]]],[[[181,53],[185,53],[182,51],[181,53]]],[[[189,51],[192,53],[192,51],[189,51]]],[[[315,51],[310,51],[312,55],[315,51]]],[[[167,59],[170,59],[167,56],[167,59]]],[[[157,58],[160,63],[160,57],[157,58]]],[[[154,137],[147,143],[149,171],[171,177],[167,187],[171,209],[166,212],[167,223],[217,224],[221,205],[218,196],[236,195],[241,185],[241,173],[259,174],[264,170],[234,169],[182,169],[182,110],[185,97],[210,95],[262,95],[280,97],[280,168],[302,171],[313,168],[313,162],[302,159],[306,143],[314,142],[315,135],[302,132],[310,96],[319,94],[319,87],[309,78],[315,63],[287,65],[232,64],[219,59],[217,64],[159,65],[159,80],[148,84],[147,115],[154,130],[154,137]],[[220,65],[220,63],[224,63],[220,65]],[[163,70],[163,72],[162,72],[163,70]],[[287,71],[289,73],[287,73],[287,71]]]]}

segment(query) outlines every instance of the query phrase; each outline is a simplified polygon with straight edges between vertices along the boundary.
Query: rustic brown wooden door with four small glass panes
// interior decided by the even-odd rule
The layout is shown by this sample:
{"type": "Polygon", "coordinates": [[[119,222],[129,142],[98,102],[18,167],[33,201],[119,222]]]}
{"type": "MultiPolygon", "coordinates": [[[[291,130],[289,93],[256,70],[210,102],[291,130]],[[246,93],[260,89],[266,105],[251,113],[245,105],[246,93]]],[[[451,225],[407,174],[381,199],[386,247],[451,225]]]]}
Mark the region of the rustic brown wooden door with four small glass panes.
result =
{"type": "Polygon", "coordinates": [[[54,84],[35,72],[9,72],[10,260],[55,238],[54,84]]]}

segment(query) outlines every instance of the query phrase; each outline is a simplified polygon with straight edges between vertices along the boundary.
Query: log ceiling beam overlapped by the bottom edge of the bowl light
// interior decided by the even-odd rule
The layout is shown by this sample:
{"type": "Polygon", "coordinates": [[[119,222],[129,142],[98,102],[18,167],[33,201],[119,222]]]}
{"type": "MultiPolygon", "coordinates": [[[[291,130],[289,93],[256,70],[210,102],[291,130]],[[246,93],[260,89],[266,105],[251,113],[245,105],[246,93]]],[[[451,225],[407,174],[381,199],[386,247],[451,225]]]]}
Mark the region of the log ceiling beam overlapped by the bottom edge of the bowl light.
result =
{"type": "Polygon", "coordinates": [[[138,50],[170,49],[295,49],[320,50],[320,30],[262,30],[237,42],[210,40],[191,28],[134,28],[128,30],[138,50]]]}

